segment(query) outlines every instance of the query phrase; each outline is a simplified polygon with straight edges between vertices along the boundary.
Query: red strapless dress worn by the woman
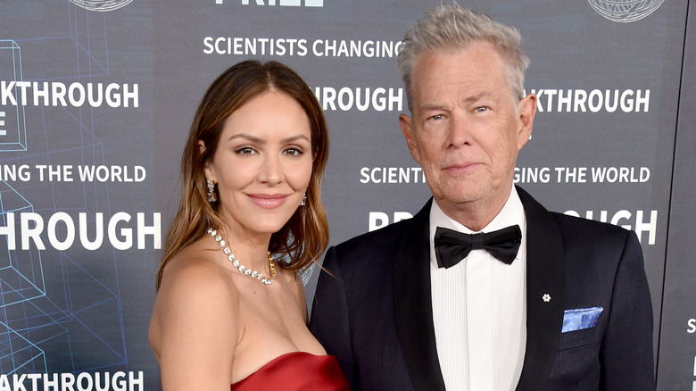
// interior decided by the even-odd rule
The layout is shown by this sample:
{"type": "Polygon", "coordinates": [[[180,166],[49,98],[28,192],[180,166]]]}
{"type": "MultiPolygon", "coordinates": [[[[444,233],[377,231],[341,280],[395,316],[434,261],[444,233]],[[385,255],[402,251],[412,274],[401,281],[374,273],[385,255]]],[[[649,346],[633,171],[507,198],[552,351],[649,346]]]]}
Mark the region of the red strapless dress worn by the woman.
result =
{"type": "Polygon", "coordinates": [[[271,360],[231,386],[233,391],[344,391],[348,389],[332,355],[291,352],[271,360]]]}

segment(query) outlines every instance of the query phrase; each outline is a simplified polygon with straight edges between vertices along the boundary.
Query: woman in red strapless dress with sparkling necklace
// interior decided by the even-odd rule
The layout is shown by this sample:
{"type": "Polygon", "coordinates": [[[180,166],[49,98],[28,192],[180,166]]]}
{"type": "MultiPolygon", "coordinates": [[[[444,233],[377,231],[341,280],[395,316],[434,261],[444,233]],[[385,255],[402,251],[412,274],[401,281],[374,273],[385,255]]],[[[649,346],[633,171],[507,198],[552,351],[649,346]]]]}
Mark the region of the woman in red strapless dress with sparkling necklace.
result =
{"type": "Polygon", "coordinates": [[[164,390],[347,389],[307,329],[298,277],[327,245],[327,154],[321,108],[286,66],[241,62],[211,84],[157,276],[164,390]]]}

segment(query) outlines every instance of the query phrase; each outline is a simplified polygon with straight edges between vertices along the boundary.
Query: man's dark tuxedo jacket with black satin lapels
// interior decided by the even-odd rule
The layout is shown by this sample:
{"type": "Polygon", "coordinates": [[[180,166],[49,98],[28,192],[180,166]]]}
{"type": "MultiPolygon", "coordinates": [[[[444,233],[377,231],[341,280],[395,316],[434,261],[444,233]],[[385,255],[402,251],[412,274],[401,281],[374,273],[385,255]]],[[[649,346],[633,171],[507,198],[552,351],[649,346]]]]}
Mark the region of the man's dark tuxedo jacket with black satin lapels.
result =
{"type": "MultiPolygon", "coordinates": [[[[527,335],[517,389],[654,390],[650,292],[635,234],[518,194],[527,335]],[[603,308],[596,326],[561,333],[565,310],[591,307],[603,308]]],[[[327,251],[310,329],[352,390],[444,390],[430,298],[431,202],[413,219],[327,251]]]]}

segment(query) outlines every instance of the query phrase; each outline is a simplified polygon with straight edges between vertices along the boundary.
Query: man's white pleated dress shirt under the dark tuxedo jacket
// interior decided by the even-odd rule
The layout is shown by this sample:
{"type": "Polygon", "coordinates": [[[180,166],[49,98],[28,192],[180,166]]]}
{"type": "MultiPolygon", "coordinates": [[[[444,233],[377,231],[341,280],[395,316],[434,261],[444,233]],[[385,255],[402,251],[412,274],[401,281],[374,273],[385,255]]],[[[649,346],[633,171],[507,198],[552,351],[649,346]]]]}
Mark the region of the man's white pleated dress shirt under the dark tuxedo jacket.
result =
{"type": "Polygon", "coordinates": [[[430,209],[430,282],[435,343],[448,390],[505,391],[518,384],[526,345],[526,218],[518,192],[481,231],[517,224],[522,243],[512,264],[472,250],[449,269],[438,268],[435,229],[475,233],[430,209]]]}

